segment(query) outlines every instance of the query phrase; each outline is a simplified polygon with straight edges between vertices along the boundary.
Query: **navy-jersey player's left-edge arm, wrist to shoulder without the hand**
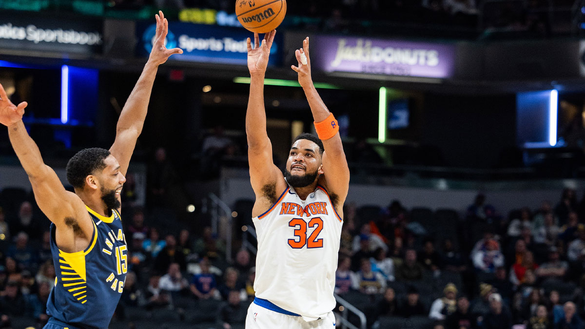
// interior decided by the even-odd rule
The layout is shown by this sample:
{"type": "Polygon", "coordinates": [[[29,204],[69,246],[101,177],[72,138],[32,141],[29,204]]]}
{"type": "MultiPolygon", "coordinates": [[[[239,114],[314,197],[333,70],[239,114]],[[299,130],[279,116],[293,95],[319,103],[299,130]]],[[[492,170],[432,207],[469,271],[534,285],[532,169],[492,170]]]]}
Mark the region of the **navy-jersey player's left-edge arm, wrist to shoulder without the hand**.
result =
{"type": "Polygon", "coordinates": [[[8,135],[16,156],[29,176],[40,210],[57,227],[70,225],[66,220],[73,219],[83,234],[91,238],[94,227],[91,220],[84,220],[89,219],[89,216],[83,201],[65,190],[54,170],[44,164],[39,148],[26,132],[23,122],[9,126],[8,135]]]}

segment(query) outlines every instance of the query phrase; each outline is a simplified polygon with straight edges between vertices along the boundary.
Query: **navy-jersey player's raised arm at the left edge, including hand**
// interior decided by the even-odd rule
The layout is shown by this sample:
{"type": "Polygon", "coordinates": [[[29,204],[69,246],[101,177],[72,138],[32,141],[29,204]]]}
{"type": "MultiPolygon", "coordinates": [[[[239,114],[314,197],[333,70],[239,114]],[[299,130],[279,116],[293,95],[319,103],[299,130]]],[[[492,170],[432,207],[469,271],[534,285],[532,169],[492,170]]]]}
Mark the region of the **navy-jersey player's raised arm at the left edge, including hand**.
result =
{"type": "MultiPolygon", "coordinates": [[[[22,102],[16,107],[8,99],[2,85],[0,98],[0,123],[8,127],[12,148],[29,176],[40,209],[57,227],[63,227],[64,234],[69,231],[77,236],[91,238],[94,227],[85,211],[85,205],[78,196],[65,190],[54,170],[44,164],[39,148],[26,132],[22,115],[27,103],[22,102]],[[67,222],[68,218],[73,219],[74,224],[67,222]]],[[[73,239],[71,242],[75,243],[73,239]]],[[[67,247],[75,246],[63,246],[67,247]]]]}

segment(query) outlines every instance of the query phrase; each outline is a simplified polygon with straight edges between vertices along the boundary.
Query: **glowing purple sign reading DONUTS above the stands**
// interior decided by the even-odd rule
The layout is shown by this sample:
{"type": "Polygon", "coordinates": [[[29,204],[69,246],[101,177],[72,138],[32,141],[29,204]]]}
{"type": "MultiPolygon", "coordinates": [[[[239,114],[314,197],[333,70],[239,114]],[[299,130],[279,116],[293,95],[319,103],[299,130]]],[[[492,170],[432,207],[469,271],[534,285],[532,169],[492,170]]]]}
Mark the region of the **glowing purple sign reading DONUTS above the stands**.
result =
{"type": "Polygon", "coordinates": [[[326,72],[448,78],[455,67],[455,47],[367,37],[314,36],[312,65],[326,72]]]}

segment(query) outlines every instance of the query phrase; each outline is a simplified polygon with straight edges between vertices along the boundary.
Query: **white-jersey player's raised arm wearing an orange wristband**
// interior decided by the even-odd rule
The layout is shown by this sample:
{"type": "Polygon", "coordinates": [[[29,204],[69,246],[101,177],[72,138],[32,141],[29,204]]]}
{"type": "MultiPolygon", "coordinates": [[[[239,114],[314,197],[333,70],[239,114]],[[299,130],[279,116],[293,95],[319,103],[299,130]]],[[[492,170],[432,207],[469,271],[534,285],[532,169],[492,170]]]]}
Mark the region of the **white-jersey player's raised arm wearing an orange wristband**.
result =
{"type": "Polygon", "coordinates": [[[298,73],[298,82],[305,91],[309,107],[315,120],[315,128],[322,140],[325,152],[323,153],[323,171],[325,185],[330,193],[338,197],[336,207],[343,204],[349,190],[349,167],[343,145],[339,136],[339,127],[333,114],[329,112],[321,96],[315,89],[311,77],[311,58],[309,57],[309,38],[302,42],[302,48],[295,51],[298,66],[292,70],[298,73]],[[329,178],[329,179],[328,179],[329,178]]]}

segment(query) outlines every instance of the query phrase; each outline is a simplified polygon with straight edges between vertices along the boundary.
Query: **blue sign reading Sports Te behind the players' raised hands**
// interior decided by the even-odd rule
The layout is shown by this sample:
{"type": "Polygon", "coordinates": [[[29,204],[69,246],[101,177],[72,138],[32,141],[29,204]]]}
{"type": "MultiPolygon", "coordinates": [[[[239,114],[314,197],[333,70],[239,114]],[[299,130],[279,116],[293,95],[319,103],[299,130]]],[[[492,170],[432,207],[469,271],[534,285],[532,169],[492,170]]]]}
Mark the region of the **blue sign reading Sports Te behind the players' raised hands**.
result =
{"type": "MultiPolygon", "coordinates": [[[[139,56],[148,56],[152,50],[155,32],[156,25],[152,23],[137,25],[136,33],[141,40],[137,46],[139,56]]],[[[254,35],[244,29],[169,22],[166,46],[183,49],[183,54],[175,54],[170,60],[246,65],[248,37],[253,38],[254,35]]],[[[269,64],[274,65],[280,61],[280,40],[274,40],[269,64]]]]}

